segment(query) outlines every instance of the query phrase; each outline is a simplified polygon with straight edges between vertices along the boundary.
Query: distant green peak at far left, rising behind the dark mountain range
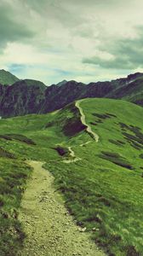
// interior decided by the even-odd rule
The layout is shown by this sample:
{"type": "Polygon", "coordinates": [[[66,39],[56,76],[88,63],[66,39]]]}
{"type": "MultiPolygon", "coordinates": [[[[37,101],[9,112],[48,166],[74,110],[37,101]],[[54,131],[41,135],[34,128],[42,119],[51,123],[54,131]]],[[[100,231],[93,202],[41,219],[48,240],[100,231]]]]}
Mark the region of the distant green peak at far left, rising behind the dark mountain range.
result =
{"type": "Polygon", "coordinates": [[[17,81],[19,81],[19,79],[12,73],[9,73],[9,71],[0,70],[0,84],[14,84],[17,81]]]}

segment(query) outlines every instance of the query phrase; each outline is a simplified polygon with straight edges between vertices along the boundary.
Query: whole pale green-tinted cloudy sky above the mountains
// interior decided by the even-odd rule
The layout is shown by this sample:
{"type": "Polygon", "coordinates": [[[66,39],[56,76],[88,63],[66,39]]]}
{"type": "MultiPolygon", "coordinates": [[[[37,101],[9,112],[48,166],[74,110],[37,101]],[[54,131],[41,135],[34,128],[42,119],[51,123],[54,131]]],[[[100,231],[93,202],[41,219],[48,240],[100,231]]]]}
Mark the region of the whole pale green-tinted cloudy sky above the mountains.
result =
{"type": "Polygon", "coordinates": [[[142,0],[0,0],[0,69],[45,84],[143,72],[142,0]]]}

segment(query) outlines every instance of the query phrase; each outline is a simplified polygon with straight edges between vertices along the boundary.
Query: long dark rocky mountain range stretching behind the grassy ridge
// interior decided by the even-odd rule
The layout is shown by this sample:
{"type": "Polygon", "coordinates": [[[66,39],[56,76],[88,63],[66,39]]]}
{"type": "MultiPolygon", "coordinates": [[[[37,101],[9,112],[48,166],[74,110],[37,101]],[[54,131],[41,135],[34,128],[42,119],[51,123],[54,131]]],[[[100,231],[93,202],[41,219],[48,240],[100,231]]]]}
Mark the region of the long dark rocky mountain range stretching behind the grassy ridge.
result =
{"type": "Polygon", "coordinates": [[[143,73],[89,84],[64,80],[48,87],[31,79],[19,80],[11,86],[0,84],[0,115],[49,113],[78,99],[92,97],[123,99],[143,106],[143,73]]]}

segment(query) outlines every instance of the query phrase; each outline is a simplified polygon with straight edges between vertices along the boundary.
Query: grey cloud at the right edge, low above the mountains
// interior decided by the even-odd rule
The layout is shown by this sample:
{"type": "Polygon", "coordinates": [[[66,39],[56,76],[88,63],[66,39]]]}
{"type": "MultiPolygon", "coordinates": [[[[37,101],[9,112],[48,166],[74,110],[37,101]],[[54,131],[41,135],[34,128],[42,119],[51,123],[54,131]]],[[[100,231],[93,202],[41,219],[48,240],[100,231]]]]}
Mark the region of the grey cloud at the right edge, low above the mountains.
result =
{"type": "Polygon", "coordinates": [[[111,54],[111,59],[100,56],[83,58],[83,63],[94,64],[103,68],[135,69],[143,67],[143,27],[137,27],[137,38],[112,39],[111,44],[104,44],[100,49],[111,54]]]}

